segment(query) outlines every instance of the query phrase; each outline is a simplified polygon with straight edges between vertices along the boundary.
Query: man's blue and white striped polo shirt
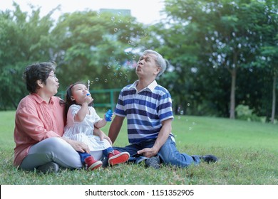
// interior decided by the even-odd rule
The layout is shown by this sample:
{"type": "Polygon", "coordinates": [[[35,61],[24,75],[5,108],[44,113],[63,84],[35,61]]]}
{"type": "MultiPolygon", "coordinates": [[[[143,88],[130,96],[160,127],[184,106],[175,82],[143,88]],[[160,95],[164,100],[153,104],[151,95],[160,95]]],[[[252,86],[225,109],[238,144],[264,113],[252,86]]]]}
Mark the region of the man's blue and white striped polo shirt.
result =
{"type": "Polygon", "coordinates": [[[138,92],[137,82],[121,90],[115,109],[115,114],[128,119],[130,144],[157,138],[161,122],[173,119],[172,99],[168,90],[153,81],[138,92]]]}

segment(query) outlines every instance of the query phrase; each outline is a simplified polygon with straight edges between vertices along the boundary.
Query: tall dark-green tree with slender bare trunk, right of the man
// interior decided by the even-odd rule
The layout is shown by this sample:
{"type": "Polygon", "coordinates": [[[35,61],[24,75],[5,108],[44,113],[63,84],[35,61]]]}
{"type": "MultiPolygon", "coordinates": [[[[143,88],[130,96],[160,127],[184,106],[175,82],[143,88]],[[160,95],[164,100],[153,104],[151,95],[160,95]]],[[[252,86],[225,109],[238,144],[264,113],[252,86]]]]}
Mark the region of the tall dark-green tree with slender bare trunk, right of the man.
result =
{"type": "Polygon", "coordinates": [[[231,119],[235,118],[237,71],[251,67],[259,52],[261,36],[254,28],[262,26],[261,14],[267,17],[264,3],[258,0],[165,1],[165,12],[171,18],[168,26],[179,23],[190,28],[190,36],[195,35],[192,43],[202,46],[198,58],[207,59],[212,68],[225,68],[230,72],[231,119]]]}

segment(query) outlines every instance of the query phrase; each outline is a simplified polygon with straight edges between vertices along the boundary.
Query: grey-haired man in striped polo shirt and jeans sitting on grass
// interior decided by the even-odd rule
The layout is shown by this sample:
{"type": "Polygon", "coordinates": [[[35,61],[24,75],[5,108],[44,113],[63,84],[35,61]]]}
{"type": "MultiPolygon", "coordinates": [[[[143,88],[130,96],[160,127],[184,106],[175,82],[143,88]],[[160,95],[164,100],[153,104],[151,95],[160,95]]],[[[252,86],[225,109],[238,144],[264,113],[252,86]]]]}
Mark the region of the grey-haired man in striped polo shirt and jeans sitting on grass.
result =
{"type": "Polygon", "coordinates": [[[108,136],[115,141],[126,117],[130,145],[117,149],[128,151],[130,161],[145,160],[145,165],[153,168],[160,168],[160,163],[187,167],[192,163],[199,164],[201,160],[215,162],[217,157],[212,155],[189,156],[177,151],[171,132],[172,99],[168,90],[155,80],[168,64],[153,50],[143,52],[136,67],[138,80],[121,90],[108,136]]]}

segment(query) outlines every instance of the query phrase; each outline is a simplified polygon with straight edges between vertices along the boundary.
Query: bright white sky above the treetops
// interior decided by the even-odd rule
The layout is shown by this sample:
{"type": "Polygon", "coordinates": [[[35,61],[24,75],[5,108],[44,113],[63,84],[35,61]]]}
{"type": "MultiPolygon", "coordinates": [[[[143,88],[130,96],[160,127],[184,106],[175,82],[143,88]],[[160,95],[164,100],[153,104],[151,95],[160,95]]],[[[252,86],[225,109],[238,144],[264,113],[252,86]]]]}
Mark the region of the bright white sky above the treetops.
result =
{"type": "MultiPolygon", "coordinates": [[[[163,0],[14,0],[22,11],[30,11],[29,4],[41,7],[41,14],[45,16],[49,11],[61,5],[61,11],[56,11],[52,17],[58,18],[61,13],[84,11],[90,9],[130,9],[131,15],[137,21],[150,24],[158,22],[161,18],[163,0]]],[[[13,0],[1,0],[0,10],[14,9],[13,0]]]]}

